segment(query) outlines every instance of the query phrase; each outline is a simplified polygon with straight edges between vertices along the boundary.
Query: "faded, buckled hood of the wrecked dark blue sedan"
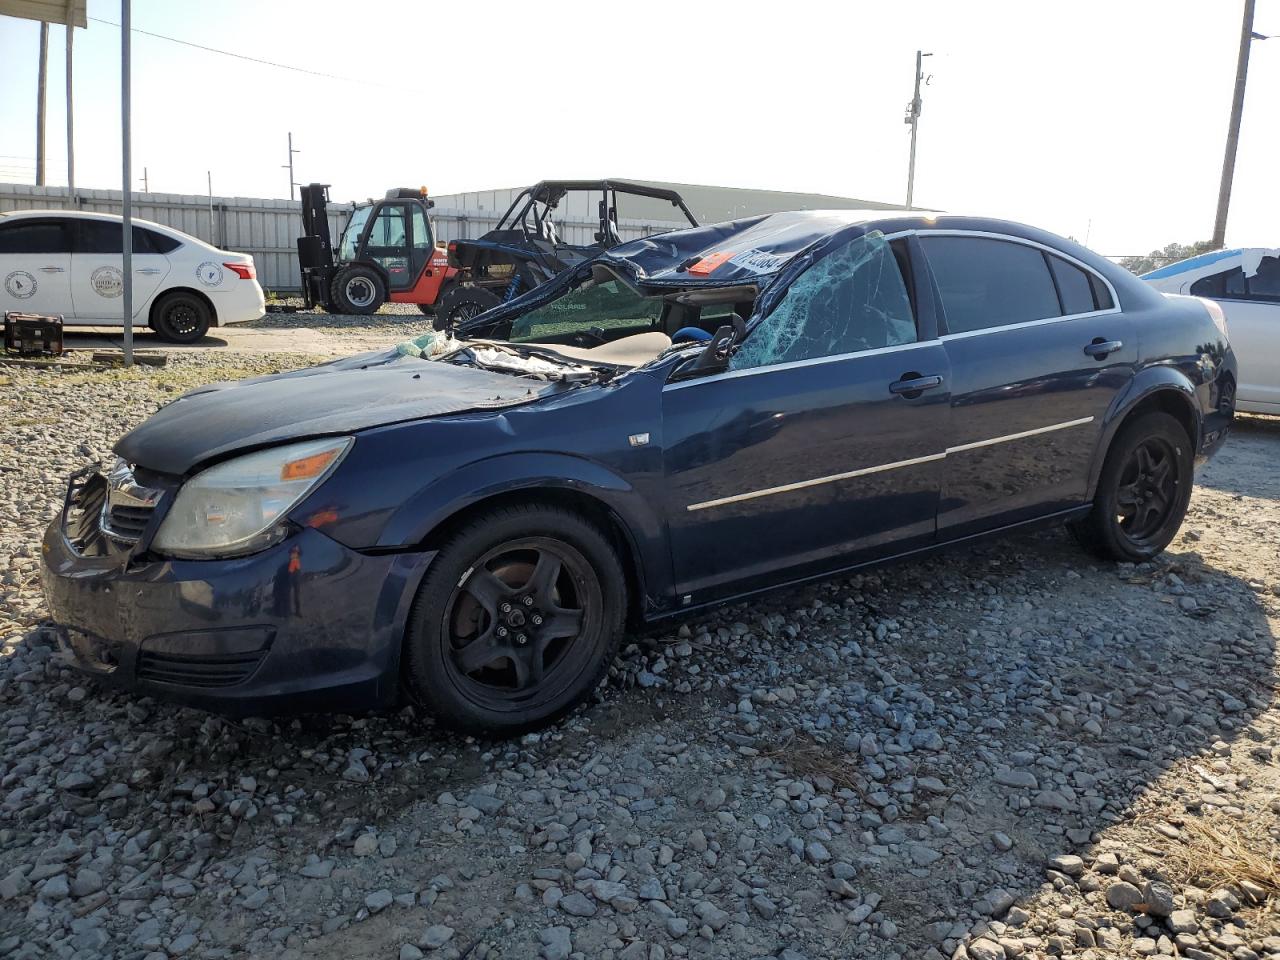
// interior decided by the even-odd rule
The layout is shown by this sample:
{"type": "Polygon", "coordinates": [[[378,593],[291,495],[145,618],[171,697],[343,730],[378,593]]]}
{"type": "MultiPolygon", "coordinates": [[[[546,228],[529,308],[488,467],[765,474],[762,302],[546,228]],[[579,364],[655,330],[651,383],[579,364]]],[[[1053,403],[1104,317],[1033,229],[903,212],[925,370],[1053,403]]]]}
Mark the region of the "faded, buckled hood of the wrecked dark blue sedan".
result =
{"type": "Polygon", "coordinates": [[[236,451],[353,433],[406,420],[500,410],[566,389],[396,351],[211,384],[183,394],[115,444],[161,474],[183,475],[236,451]]]}

